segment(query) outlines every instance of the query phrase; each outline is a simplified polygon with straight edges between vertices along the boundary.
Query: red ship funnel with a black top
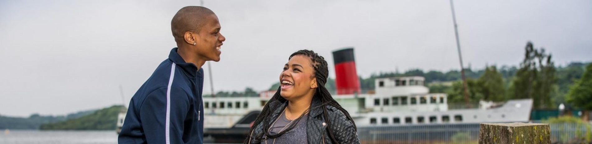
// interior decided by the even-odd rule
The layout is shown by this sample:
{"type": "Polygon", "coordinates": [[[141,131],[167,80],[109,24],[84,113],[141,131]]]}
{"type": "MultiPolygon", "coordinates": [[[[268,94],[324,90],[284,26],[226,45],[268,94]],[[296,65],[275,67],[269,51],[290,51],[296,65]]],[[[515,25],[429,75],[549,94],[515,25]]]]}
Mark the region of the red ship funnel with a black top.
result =
{"type": "Polygon", "coordinates": [[[333,61],[337,94],[359,94],[360,81],[356,72],[356,62],[353,59],[353,47],[334,51],[333,61]]]}

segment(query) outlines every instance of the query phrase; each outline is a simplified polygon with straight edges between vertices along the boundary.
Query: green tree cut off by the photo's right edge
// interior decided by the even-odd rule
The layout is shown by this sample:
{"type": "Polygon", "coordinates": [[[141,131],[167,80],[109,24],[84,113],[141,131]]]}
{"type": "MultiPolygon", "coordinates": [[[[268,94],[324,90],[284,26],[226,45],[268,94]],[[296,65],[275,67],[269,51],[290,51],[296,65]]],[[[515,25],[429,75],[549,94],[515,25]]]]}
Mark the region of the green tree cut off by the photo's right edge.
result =
{"type": "Polygon", "coordinates": [[[575,107],[582,108],[584,119],[588,119],[587,111],[592,110],[592,64],[588,64],[584,75],[571,85],[565,99],[575,107]]]}

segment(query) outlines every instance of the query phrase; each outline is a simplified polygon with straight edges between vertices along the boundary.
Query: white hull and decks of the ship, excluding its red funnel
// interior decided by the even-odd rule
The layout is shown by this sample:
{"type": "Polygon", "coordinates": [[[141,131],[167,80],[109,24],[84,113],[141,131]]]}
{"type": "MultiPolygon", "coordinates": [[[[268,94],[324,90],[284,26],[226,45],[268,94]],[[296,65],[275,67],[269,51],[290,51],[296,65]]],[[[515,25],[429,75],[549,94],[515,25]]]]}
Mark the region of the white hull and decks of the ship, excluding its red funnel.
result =
{"type": "MultiPolygon", "coordinates": [[[[527,122],[532,100],[510,100],[480,107],[448,109],[448,95],[429,93],[422,76],[378,78],[374,94],[333,95],[358,126],[406,124],[527,122]]],[[[260,111],[275,91],[259,97],[204,97],[205,127],[230,128],[252,111],[260,111]]],[[[254,119],[253,119],[254,120],[254,119]]],[[[239,124],[248,127],[251,121],[239,124]]]]}

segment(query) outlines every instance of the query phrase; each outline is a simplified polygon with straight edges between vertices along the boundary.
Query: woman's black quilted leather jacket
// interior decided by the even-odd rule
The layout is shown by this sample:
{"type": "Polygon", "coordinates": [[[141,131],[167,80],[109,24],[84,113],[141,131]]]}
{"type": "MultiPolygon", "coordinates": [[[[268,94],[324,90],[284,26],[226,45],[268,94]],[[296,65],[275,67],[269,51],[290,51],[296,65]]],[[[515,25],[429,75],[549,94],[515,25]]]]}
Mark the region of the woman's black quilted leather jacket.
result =
{"type": "MultiPolygon", "coordinates": [[[[275,103],[280,102],[276,101],[275,103]]],[[[308,143],[360,143],[360,140],[358,139],[358,133],[356,132],[357,130],[355,127],[353,127],[353,123],[348,120],[345,114],[331,105],[324,105],[324,107],[327,107],[329,121],[332,124],[331,129],[333,130],[333,135],[337,140],[337,142],[332,142],[331,138],[329,137],[329,132],[327,132],[327,123],[325,123],[325,119],[323,117],[323,109],[321,107],[316,107],[320,104],[320,100],[314,97],[310,105],[311,110],[310,113],[308,113],[308,120],[306,123],[308,143]]],[[[275,107],[274,113],[271,115],[272,119],[276,119],[278,116],[280,116],[284,107],[285,103],[278,104],[278,106],[275,107]]],[[[255,126],[255,130],[249,134],[246,142],[262,143],[261,140],[255,139],[255,136],[263,136],[262,133],[263,124],[255,126]]]]}

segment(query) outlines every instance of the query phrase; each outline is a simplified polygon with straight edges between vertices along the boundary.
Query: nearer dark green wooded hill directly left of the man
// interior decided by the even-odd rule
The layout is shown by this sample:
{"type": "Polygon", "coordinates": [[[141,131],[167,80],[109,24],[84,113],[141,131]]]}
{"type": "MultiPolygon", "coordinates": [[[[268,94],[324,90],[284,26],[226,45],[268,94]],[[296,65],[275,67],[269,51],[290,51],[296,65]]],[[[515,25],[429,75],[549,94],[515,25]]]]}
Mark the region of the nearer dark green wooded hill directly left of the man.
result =
{"type": "Polygon", "coordinates": [[[41,130],[115,130],[117,114],[124,108],[122,105],[113,105],[92,114],[59,121],[56,123],[41,124],[41,130]]]}

